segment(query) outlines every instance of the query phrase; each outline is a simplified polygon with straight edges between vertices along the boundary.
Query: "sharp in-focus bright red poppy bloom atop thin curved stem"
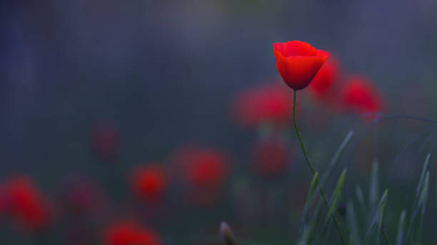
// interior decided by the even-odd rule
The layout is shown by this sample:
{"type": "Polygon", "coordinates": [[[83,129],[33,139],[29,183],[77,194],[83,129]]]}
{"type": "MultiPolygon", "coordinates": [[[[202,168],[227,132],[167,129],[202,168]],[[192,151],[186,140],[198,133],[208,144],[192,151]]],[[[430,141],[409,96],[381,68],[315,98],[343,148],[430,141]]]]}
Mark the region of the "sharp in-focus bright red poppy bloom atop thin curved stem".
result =
{"type": "Polygon", "coordinates": [[[276,68],[283,81],[293,88],[306,88],[328,58],[328,52],[302,41],[273,43],[276,68]]]}

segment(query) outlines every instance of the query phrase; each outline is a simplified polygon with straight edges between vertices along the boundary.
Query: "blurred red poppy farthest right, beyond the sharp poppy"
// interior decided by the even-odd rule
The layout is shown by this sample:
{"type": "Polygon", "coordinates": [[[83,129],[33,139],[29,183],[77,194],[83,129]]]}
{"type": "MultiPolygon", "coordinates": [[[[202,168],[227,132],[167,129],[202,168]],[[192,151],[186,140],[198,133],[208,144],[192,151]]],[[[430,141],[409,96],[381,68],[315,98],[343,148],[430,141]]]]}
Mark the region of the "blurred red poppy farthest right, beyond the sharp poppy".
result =
{"type": "Polygon", "coordinates": [[[383,109],[381,96],[368,78],[354,75],[341,91],[343,108],[353,113],[373,113],[383,109]]]}

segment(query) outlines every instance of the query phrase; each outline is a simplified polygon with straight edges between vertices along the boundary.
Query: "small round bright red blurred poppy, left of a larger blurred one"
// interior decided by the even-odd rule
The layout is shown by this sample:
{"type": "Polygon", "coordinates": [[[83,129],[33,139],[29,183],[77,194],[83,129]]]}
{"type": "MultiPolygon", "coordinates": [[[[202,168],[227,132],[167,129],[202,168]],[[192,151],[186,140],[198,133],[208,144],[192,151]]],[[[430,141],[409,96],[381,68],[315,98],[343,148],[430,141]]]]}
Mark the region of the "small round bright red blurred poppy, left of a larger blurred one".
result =
{"type": "Polygon", "coordinates": [[[131,187],[134,192],[148,201],[157,201],[166,190],[167,176],[162,167],[139,167],[131,174],[131,187]]]}

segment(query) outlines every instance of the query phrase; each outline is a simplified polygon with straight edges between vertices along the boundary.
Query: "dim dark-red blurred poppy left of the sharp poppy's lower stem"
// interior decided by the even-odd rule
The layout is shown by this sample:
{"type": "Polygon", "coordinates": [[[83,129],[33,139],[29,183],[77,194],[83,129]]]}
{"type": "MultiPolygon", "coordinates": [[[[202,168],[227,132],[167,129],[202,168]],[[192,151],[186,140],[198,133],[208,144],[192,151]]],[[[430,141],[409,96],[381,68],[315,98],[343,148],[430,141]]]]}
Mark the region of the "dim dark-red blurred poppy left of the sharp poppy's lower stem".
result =
{"type": "Polygon", "coordinates": [[[263,177],[273,177],[286,169],[288,149],[283,141],[270,138],[258,142],[253,149],[253,164],[263,177]]]}

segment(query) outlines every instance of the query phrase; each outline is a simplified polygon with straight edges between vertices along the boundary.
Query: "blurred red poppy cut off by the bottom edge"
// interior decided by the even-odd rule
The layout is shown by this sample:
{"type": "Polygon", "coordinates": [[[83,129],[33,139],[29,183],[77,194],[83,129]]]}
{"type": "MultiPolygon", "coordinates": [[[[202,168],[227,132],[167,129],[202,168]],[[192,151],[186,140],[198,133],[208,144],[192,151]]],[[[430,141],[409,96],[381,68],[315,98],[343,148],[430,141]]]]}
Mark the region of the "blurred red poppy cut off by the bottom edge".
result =
{"type": "Polygon", "coordinates": [[[133,222],[123,221],[104,231],[105,245],[159,245],[159,236],[133,222]]]}

